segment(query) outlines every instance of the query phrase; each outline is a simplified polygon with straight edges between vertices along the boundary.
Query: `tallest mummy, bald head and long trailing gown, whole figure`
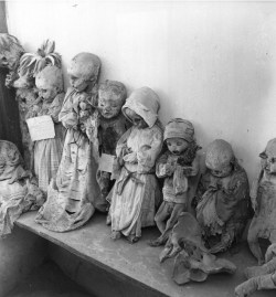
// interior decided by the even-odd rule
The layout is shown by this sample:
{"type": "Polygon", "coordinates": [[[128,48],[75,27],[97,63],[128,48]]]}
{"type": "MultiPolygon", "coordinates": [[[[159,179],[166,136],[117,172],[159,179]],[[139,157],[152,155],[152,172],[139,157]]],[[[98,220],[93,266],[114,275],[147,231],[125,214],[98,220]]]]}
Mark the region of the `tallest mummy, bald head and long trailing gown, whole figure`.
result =
{"type": "Polygon", "coordinates": [[[100,194],[94,158],[98,150],[98,116],[93,107],[99,67],[100,60],[92,53],[77,54],[68,65],[71,87],[59,115],[66,128],[62,160],[56,182],[50,184],[46,203],[35,219],[49,230],[65,232],[85,224],[95,211],[95,198],[100,194]]]}

